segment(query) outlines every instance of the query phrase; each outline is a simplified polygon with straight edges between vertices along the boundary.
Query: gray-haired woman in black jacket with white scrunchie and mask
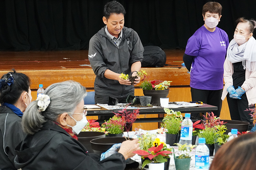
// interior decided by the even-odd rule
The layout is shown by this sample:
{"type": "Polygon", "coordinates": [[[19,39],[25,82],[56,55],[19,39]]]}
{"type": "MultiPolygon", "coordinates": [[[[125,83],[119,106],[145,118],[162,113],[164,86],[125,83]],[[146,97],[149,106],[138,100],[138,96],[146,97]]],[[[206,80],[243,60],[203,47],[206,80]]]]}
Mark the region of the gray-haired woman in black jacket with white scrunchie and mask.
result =
{"type": "Polygon", "coordinates": [[[100,154],[88,153],[77,141],[86,125],[84,96],[86,89],[77,82],[66,81],[50,85],[33,101],[22,119],[28,134],[17,148],[15,166],[28,169],[54,170],[121,170],[125,160],[139,150],[138,140],[127,140],[118,153],[100,160],[100,154]]]}

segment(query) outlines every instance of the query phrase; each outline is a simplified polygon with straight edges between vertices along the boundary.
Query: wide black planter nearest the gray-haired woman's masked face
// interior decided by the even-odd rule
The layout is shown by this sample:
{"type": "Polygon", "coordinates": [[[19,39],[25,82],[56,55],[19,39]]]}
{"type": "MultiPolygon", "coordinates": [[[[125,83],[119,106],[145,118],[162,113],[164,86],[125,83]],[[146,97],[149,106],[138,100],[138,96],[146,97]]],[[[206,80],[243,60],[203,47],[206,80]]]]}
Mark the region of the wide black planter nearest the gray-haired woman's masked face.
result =
{"type": "Polygon", "coordinates": [[[92,139],[97,139],[97,138],[105,138],[105,133],[104,132],[80,132],[77,137],[78,141],[84,145],[84,147],[88,150],[89,153],[93,153],[91,143],[90,141],[92,139]]]}

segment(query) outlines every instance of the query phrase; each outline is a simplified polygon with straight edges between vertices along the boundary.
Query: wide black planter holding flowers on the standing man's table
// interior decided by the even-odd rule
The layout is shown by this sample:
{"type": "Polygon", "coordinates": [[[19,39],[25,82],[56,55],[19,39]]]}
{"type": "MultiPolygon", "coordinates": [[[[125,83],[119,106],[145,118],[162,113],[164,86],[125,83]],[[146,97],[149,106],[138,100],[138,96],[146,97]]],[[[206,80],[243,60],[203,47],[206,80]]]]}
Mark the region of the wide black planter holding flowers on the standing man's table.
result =
{"type": "Polygon", "coordinates": [[[169,89],[167,90],[143,90],[144,96],[152,96],[150,104],[160,105],[160,98],[167,97],[169,89]]]}

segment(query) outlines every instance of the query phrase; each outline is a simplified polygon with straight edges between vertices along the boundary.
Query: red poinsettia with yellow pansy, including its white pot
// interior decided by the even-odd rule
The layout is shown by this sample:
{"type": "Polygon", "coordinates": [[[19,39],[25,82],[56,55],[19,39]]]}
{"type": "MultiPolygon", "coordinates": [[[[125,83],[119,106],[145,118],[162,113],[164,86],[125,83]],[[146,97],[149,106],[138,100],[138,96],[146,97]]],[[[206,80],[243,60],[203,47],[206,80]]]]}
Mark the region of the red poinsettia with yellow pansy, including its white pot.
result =
{"type": "Polygon", "coordinates": [[[133,153],[138,154],[142,159],[148,158],[143,161],[142,168],[149,164],[149,170],[164,170],[164,162],[167,162],[167,158],[170,158],[169,155],[172,153],[171,148],[168,148],[164,142],[160,142],[158,138],[153,142],[153,145],[147,150],[141,149],[133,153]]]}

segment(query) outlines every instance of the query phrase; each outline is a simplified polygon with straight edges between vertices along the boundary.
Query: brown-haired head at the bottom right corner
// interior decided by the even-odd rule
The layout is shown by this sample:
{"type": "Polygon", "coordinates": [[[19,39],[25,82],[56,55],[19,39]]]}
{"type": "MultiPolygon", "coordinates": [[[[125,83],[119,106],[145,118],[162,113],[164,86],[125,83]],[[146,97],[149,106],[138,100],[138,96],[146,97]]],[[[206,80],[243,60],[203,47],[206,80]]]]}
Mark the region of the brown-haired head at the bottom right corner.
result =
{"type": "Polygon", "coordinates": [[[241,135],[220,147],[210,170],[255,169],[255,148],[256,133],[241,135]]]}

